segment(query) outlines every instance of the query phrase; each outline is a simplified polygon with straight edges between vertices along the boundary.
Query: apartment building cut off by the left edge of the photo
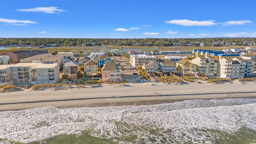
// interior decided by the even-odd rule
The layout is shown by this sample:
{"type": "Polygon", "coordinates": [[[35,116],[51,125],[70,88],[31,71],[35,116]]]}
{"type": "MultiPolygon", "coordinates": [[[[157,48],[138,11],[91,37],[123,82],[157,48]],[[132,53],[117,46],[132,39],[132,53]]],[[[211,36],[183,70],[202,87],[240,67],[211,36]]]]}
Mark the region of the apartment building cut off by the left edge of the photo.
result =
{"type": "Polygon", "coordinates": [[[0,86],[12,83],[13,81],[11,65],[0,65],[0,86]]]}

